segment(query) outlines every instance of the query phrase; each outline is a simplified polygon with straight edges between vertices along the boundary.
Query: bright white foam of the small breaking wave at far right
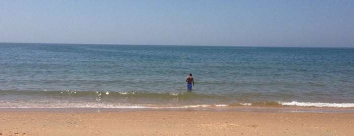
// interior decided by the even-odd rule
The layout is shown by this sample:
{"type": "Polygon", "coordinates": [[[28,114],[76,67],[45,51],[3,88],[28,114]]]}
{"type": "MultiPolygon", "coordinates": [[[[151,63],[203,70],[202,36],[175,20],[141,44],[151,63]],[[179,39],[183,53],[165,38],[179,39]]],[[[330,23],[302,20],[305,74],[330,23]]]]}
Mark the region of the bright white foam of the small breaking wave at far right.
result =
{"type": "Polygon", "coordinates": [[[337,103],[309,103],[309,102],[297,102],[297,101],[291,101],[291,102],[279,101],[279,104],[284,105],[284,106],[300,106],[300,107],[334,107],[334,108],[353,108],[354,107],[353,103],[337,104],[337,103]]]}

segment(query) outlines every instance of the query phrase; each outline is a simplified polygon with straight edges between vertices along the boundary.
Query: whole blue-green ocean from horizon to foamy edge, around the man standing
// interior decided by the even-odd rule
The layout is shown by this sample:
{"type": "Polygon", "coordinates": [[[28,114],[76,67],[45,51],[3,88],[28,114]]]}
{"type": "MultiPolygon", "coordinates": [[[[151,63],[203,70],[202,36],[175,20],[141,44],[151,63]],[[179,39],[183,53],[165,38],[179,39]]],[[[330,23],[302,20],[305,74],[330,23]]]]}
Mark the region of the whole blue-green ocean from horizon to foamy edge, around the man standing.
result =
{"type": "Polygon", "coordinates": [[[354,48],[0,43],[0,109],[252,106],[354,108],[354,48]]]}

